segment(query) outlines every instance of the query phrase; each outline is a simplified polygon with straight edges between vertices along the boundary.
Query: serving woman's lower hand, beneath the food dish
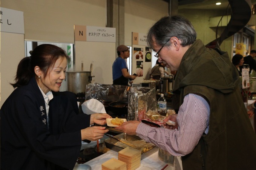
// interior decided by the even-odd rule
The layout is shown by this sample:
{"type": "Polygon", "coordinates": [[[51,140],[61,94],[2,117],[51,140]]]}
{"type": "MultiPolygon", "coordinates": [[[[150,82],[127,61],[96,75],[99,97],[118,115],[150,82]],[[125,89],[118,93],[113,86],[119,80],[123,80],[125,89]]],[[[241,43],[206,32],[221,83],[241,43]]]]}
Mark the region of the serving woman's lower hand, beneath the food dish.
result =
{"type": "Polygon", "coordinates": [[[90,140],[97,141],[101,139],[104,133],[107,133],[109,130],[106,127],[102,126],[92,126],[89,128],[81,129],[81,139],[82,140],[90,140]]]}

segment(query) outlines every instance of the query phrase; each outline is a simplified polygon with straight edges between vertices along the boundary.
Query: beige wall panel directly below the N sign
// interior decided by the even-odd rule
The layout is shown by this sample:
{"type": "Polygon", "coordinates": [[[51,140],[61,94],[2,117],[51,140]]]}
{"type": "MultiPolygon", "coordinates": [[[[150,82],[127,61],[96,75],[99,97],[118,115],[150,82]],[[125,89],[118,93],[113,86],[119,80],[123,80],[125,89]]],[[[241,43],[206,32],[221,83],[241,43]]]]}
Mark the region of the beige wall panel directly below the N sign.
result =
{"type": "Polygon", "coordinates": [[[115,61],[115,42],[75,42],[75,71],[81,71],[83,60],[84,71],[90,71],[92,61],[92,83],[113,84],[112,64],[115,61]]]}

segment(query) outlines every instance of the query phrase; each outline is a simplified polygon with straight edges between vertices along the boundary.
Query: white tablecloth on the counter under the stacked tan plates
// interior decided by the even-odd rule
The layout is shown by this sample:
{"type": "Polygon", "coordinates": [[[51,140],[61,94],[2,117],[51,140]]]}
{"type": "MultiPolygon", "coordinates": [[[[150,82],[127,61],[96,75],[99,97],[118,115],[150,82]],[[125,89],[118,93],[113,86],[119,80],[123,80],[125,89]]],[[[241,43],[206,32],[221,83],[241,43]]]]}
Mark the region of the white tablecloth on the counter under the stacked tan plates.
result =
{"type": "MultiPolygon", "coordinates": [[[[104,153],[103,155],[100,155],[97,158],[94,158],[84,164],[90,165],[92,167],[92,170],[100,170],[101,164],[111,158],[118,159],[118,152],[109,150],[107,153],[104,153]]],[[[136,170],[161,170],[165,165],[166,163],[158,159],[158,151],[157,151],[152,155],[148,156],[147,158],[144,158],[141,161],[141,165],[138,168],[136,168],[136,170]]],[[[169,166],[164,170],[182,170],[180,157],[179,156],[175,157],[174,167],[169,166]]]]}

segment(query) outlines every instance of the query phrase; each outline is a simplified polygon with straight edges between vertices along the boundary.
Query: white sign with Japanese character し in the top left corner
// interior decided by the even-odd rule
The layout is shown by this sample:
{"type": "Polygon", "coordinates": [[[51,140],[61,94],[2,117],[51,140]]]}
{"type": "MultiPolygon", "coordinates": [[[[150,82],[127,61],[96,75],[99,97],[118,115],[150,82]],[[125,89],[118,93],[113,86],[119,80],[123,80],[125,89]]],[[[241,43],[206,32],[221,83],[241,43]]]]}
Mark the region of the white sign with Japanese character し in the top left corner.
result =
{"type": "Polygon", "coordinates": [[[24,34],[24,17],[22,11],[0,8],[1,32],[24,34]]]}

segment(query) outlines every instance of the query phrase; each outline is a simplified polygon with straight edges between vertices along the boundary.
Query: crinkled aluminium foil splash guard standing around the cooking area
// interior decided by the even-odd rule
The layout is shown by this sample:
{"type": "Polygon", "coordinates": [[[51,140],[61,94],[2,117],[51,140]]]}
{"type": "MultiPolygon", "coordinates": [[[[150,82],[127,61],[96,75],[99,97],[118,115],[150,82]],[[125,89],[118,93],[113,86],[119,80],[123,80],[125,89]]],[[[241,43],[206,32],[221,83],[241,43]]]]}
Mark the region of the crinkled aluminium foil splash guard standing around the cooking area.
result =
{"type": "Polygon", "coordinates": [[[157,109],[156,90],[152,87],[130,87],[112,84],[86,84],[85,99],[128,102],[127,120],[142,120],[148,110],[157,109]]]}

